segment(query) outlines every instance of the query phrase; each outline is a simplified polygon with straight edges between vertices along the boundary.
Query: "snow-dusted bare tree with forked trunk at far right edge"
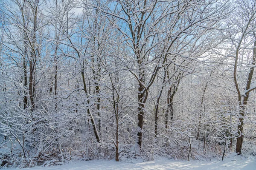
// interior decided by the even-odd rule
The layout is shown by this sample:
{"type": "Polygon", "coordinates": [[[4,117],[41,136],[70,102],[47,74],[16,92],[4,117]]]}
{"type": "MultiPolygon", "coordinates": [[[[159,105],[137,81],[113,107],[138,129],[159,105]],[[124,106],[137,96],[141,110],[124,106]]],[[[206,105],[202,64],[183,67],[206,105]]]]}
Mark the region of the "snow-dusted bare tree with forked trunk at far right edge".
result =
{"type": "Polygon", "coordinates": [[[256,38],[255,38],[255,18],[256,18],[256,4],[255,1],[237,1],[236,7],[238,13],[235,13],[232,18],[227,20],[227,24],[233,26],[228,31],[228,36],[234,46],[234,70],[233,70],[233,81],[236,87],[239,104],[239,125],[238,125],[238,136],[236,142],[236,153],[241,154],[241,148],[243,143],[243,127],[244,127],[244,116],[246,113],[246,105],[250,96],[250,92],[256,89],[255,85],[252,85],[253,72],[256,61],[256,38]],[[233,30],[232,30],[233,29],[233,30]],[[233,34],[235,32],[235,34],[233,34]],[[239,34],[239,32],[241,34],[239,34]],[[253,40],[254,39],[254,40],[253,40]],[[243,55],[245,49],[249,44],[253,44],[253,54],[251,55],[250,63],[243,61],[243,55]],[[246,69],[248,72],[246,85],[242,87],[238,79],[238,71],[240,71],[239,65],[247,65],[246,69]]]}

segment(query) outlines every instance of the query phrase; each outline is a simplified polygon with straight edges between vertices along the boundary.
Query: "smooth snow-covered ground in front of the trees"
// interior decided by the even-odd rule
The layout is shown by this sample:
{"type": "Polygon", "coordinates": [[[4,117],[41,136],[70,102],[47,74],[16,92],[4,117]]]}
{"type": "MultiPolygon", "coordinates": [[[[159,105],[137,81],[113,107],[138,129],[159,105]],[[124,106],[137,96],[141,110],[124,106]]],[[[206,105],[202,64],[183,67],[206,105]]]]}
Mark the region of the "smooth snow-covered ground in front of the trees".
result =
{"type": "MultiPolygon", "coordinates": [[[[14,169],[8,169],[14,170],[14,169]]],[[[54,167],[33,167],[23,170],[256,170],[256,157],[229,156],[224,161],[155,160],[133,163],[111,161],[80,161],[54,167]]]]}

